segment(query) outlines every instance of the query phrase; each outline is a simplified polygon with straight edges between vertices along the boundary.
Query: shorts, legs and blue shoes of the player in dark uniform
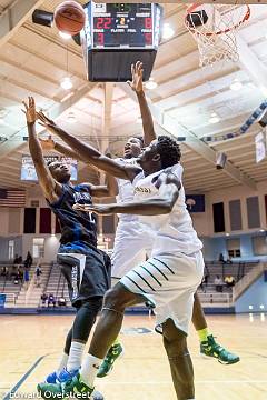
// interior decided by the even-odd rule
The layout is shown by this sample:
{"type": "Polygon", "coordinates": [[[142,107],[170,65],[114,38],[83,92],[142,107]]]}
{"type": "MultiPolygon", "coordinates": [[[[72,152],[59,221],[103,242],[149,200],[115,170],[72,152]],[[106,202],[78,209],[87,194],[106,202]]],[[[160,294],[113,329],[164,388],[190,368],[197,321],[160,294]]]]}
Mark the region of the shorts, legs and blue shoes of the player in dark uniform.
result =
{"type": "MultiPolygon", "coordinates": [[[[103,254],[98,250],[91,250],[87,256],[65,253],[60,254],[59,259],[61,260],[61,270],[68,282],[72,306],[77,308],[70,347],[69,340],[66,342],[65,352],[67,353],[69,349],[67,366],[57,379],[59,382],[66,382],[78,372],[81,366],[85,344],[101,309],[109,279],[107,276],[107,261],[103,260],[103,254]],[[96,282],[98,282],[97,286],[96,282]]],[[[53,388],[53,386],[44,383],[39,384],[38,390],[41,393],[46,391],[58,393],[57,387],[53,388]]]]}

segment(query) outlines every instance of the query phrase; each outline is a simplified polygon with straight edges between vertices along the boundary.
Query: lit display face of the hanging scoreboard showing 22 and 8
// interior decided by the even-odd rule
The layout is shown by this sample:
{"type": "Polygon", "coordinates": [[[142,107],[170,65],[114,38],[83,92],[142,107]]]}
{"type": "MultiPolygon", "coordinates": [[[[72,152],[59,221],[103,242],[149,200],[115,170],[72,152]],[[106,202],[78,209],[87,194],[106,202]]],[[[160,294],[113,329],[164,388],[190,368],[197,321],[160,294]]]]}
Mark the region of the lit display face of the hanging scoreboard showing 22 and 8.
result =
{"type": "Polygon", "coordinates": [[[93,48],[151,48],[154,4],[95,4],[93,48]]]}

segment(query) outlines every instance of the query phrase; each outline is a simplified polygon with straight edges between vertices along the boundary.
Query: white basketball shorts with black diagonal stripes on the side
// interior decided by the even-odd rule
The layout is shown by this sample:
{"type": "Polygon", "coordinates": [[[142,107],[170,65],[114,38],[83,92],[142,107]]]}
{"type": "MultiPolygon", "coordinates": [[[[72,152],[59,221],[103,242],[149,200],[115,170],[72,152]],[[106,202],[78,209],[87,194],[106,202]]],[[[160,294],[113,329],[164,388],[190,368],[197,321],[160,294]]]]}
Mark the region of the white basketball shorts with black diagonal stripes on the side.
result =
{"type": "Polygon", "coordinates": [[[201,282],[201,251],[186,256],[159,254],[134,268],[120,283],[155,303],[156,326],[172,319],[186,334],[192,316],[194,294],[201,282]]]}

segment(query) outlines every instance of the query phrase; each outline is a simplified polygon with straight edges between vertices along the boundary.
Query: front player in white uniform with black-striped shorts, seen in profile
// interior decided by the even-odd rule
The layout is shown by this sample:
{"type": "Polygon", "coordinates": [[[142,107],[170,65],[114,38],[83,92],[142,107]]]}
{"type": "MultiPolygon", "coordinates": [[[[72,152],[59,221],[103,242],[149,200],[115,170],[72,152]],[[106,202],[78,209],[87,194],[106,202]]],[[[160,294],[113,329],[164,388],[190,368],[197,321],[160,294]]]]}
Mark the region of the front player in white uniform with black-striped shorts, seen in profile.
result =
{"type": "MultiPolygon", "coordinates": [[[[97,167],[102,167],[102,156],[95,149],[77,146],[76,150],[97,167]]],[[[155,241],[151,258],[135,267],[107,293],[89,354],[80,373],[62,388],[65,393],[92,391],[97,368],[119,333],[125,308],[148,299],[156,304],[157,327],[162,330],[177,399],[195,398],[186,336],[194,294],[202,278],[204,260],[202,244],[185,204],[180,167],[176,166],[179,159],[178,143],[162,136],[140,154],[138,162],[144,171],[109,160],[109,172],[132,181],[137,200],[85,208],[100,214],[121,212],[144,216],[141,221],[148,226],[155,241]],[[169,167],[172,169],[169,170],[169,167]]],[[[105,163],[107,166],[106,159],[105,163]]]]}

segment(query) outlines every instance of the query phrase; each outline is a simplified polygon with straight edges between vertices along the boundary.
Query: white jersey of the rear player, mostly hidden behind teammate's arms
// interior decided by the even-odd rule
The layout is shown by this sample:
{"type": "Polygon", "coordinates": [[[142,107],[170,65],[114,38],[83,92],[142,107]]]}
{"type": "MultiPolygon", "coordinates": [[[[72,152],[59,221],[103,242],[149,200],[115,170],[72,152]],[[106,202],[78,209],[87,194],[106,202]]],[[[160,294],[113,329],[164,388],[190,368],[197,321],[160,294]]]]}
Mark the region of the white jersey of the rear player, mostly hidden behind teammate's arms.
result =
{"type": "MultiPolygon", "coordinates": [[[[137,160],[136,158],[115,159],[115,161],[119,162],[121,166],[125,166],[125,164],[136,166],[137,164],[136,160],[137,160]]],[[[119,194],[116,197],[117,202],[123,203],[123,202],[132,201],[134,200],[134,186],[131,184],[131,182],[126,179],[117,178],[117,183],[118,183],[118,189],[119,189],[119,194]]],[[[118,217],[119,217],[120,221],[138,221],[138,216],[118,213],[118,217]]]]}

